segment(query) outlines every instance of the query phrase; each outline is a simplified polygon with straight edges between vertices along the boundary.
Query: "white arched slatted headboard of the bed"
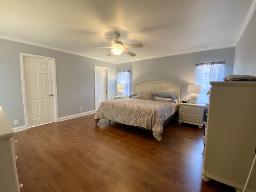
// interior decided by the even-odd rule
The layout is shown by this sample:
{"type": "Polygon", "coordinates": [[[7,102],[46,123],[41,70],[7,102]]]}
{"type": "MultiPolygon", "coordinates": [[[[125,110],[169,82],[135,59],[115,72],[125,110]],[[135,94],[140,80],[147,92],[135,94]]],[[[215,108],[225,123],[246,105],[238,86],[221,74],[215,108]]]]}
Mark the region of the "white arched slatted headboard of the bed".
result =
{"type": "Polygon", "coordinates": [[[173,83],[171,81],[165,81],[161,79],[150,79],[141,81],[134,86],[134,92],[137,91],[154,91],[154,92],[170,92],[178,96],[178,102],[180,102],[180,90],[182,86],[173,83]]]}

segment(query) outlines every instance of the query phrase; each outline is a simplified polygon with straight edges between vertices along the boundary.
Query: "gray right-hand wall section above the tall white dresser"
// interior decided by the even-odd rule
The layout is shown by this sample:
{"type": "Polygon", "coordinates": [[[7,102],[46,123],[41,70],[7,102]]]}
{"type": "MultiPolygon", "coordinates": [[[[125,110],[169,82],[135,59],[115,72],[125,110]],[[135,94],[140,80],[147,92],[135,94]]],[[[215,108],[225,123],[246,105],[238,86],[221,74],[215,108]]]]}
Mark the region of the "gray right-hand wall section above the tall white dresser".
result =
{"type": "Polygon", "coordinates": [[[256,76],[256,11],[236,44],[234,74],[256,76]]]}

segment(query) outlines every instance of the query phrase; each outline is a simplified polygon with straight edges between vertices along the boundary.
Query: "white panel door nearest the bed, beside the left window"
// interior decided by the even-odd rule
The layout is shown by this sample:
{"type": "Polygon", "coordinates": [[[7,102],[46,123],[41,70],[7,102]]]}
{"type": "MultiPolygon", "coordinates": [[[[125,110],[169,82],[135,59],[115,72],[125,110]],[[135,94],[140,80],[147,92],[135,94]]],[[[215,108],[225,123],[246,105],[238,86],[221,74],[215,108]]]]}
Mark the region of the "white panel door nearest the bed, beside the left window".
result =
{"type": "Polygon", "coordinates": [[[101,102],[106,101],[107,98],[107,85],[106,85],[106,68],[95,66],[95,103],[96,111],[101,102]]]}

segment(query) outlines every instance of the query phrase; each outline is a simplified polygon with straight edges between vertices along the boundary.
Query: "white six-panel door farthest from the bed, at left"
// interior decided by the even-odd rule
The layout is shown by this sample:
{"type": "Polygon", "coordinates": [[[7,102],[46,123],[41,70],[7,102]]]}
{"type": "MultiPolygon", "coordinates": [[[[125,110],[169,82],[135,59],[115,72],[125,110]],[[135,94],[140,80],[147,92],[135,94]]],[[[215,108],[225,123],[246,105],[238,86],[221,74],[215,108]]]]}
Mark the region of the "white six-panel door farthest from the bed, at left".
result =
{"type": "Polygon", "coordinates": [[[52,61],[24,57],[29,127],[55,121],[52,61]]]}

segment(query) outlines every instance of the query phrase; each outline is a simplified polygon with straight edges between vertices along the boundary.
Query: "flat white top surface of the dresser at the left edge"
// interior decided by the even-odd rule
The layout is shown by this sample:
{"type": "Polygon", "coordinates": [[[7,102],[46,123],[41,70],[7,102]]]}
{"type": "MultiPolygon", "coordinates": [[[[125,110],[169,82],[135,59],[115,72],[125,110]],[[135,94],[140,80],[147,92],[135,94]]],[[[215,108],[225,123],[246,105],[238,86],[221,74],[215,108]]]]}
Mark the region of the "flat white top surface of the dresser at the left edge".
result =
{"type": "Polygon", "coordinates": [[[0,139],[6,137],[13,137],[13,128],[4,114],[2,107],[0,106],[0,139]]]}

